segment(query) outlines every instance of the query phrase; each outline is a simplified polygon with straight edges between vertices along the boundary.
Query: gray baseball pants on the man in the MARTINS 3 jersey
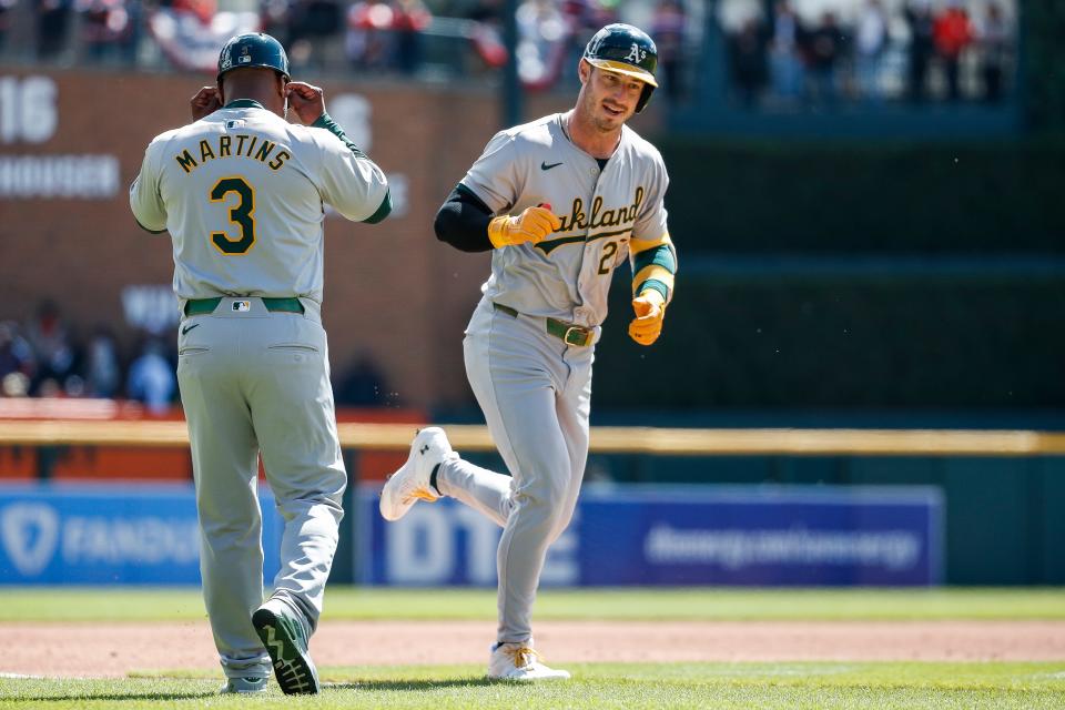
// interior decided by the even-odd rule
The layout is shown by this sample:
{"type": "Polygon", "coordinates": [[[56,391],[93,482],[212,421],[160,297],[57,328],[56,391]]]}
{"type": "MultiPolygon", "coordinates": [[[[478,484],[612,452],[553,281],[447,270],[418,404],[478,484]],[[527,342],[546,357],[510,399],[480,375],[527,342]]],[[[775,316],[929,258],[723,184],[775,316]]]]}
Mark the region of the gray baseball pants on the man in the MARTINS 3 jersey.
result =
{"type": "Polygon", "coordinates": [[[258,455],[284,518],[274,596],[322,612],[347,475],[336,433],[328,351],[317,304],[271,313],[260,298],[223,298],[183,318],[178,383],[192,443],[203,596],[229,677],[268,676],[252,627],[263,602],[258,455]],[[250,310],[234,311],[234,301],[250,310]]]}

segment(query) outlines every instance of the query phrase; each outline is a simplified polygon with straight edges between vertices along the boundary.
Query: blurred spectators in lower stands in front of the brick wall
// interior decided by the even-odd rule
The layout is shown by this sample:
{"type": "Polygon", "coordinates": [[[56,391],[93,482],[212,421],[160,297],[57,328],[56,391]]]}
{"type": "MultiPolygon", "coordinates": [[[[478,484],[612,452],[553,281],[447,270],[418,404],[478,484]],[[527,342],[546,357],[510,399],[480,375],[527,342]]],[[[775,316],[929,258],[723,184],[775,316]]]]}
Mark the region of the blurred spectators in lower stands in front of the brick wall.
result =
{"type": "MultiPolygon", "coordinates": [[[[100,397],[143,403],[155,414],[178,403],[176,336],[141,332],[132,347],[97,325],[84,332],[52,301],[24,322],[0,321],[0,398],[100,397]]],[[[365,354],[333,383],[338,406],[397,406],[385,377],[365,354]]]]}

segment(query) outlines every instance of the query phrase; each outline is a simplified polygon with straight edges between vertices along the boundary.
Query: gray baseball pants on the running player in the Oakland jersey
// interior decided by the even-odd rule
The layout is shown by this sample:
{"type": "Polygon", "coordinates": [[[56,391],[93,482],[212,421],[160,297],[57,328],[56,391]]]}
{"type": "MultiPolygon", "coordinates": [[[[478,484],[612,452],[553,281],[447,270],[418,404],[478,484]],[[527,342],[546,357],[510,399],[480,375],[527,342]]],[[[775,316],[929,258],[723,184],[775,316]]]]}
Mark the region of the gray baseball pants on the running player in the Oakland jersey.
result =
{"type": "Polygon", "coordinates": [[[497,640],[527,642],[544,558],[572,518],[588,458],[594,346],[567,345],[542,318],[514,317],[483,298],[464,351],[469,384],[511,475],[458,458],[440,466],[437,484],[503,527],[497,640]]]}

